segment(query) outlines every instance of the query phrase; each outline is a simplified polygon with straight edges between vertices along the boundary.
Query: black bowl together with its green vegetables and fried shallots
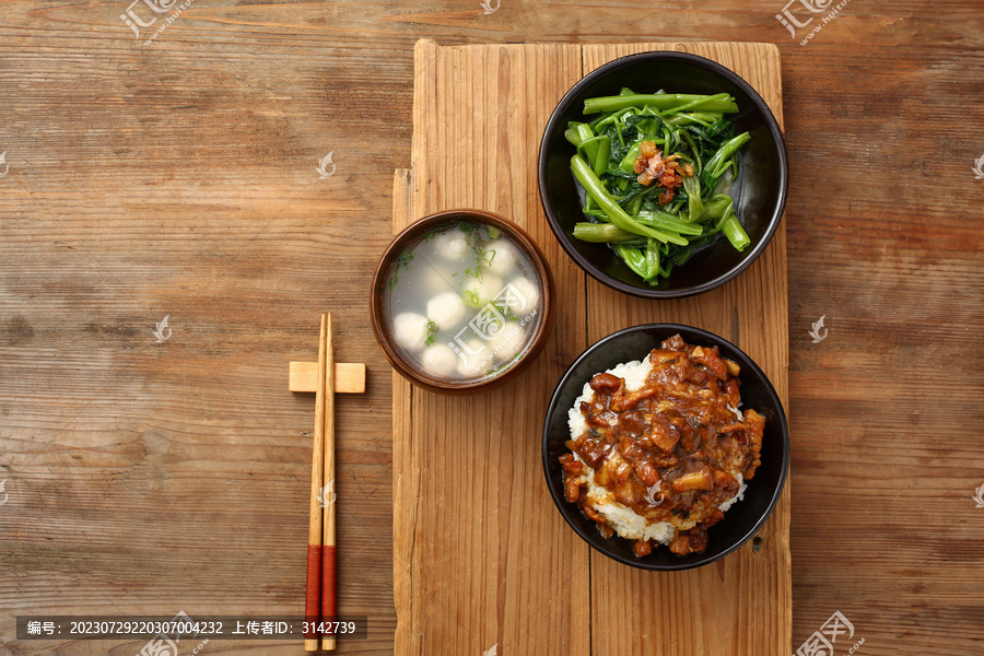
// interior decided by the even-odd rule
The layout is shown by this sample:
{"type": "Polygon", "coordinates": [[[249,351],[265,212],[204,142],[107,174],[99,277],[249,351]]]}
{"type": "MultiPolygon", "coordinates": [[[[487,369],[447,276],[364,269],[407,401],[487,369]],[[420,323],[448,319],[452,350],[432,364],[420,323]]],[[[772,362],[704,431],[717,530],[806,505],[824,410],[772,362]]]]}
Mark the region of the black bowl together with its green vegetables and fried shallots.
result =
{"type": "Polygon", "coordinates": [[[616,59],[569,91],[539,155],[553,234],[599,282],[676,298],[718,288],[783,216],[782,130],[729,69],[686,52],[616,59]]]}

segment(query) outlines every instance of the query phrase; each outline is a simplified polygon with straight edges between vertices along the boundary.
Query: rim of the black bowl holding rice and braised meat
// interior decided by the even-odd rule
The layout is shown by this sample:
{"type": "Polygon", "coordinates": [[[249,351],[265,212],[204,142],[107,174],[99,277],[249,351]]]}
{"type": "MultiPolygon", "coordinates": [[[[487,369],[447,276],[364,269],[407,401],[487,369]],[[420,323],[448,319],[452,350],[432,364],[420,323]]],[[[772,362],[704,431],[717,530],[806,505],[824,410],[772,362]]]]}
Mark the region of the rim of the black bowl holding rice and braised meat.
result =
{"type": "MultiPolygon", "coordinates": [[[[741,363],[741,366],[746,366],[746,363],[741,363]]],[[[566,410],[564,410],[566,411],[566,410]]],[[[632,567],[639,570],[648,570],[654,572],[678,572],[682,570],[691,570],[694,567],[701,567],[703,565],[713,563],[718,561],[728,554],[737,551],[742,544],[748,542],[759,530],[762,529],[762,526],[765,524],[765,520],[772,515],[772,512],[775,509],[775,506],[778,504],[778,500],[783,495],[783,489],[786,484],[786,479],[789,472],[789,461],[790,461],[790,443],[789,443],[789,424],[786,420],[786,412],[783,408],[782,399],[780,399],[778,394],[775,391],[775,387],[772,385],[772,380],[765,375],[765,372],[752,360],[748,353],[729,342],[728,340],[711,332],[710,330],[704,330],[703,328],[698,328],[695,326],[688,326],[686,324],[641,324],[639,326],[630,326],[629,328],[623,328],[621,330],[617,330],[611,335],[601,338],[594,344],[589,345],[585,351],[577,356],[577,359],[571,363],[567,370],[564,372],[563,377],[561,377],[560,383],[557,384],[557,387],[553,390],[553,394],[550,396],[550,403],[547,406],[547,412],[543,415],[543,431],[540,441],[540,455],[542,459],[543,466],[543,477],[544,482],[547,483],[547,489],[550,492],[551,499],[553,499],[553,504],[557,506],[558,512],[560,512],[561,517],[564,518],[564,522],[574,529],[582,540],[588,543],[588,546],[596,550],[597,552],[618,561],[622,564],[630,565],[632,567]],[[762,515],[755,520],[754,525],[745,532],[738,540],[736,540],[731,546],[722,551],[721,553],[715,554],[713,558],[707,558],[705,560],[696,560],[696,561],[684,561],[681,558],[680,563],[672,563],[669,565],[666,564],[655,564],[655,563],[646,563],[641,559],[630,559],[625,558],[619,553],[609,552],[602,549],[599,544],[596,544],[593,539],[595,536],[588,534],[583,526],[575,524],[566,514],[567,506],[570,506],[570,502],[566,497],[561,496],[561,492],[554,488],[551,483],[552,475],[550,471],[551,462],[550,462],[550,454],[548,452],[548,442],[550,441],[550,418],[558,411],[558,401],[561,394],[561,390],[566,387],[570,383],[571,377],[573,376],[574,370],[581,364],[585,359],[588,358],[591,353],[596,352],[599,349],[604,349],[606,345],[611,343],[612,341],[619,340],[626,335],[632,335],[634,332],[642,331],[651,331],[651,330],[668,330],[669,335],[673,335],[675,332],[691,332],[700,336],[702,339],[706,339],[711,345],[725,347],[727,349],[731,349],[737,355],[743,358],[747,361],[749,368],[751,368],[765,384],[765,393],[768,394],[770,401],[774,403],[774,407],[777,409],[777,417],[781,425],[781,444],[783,447],[783,458],[782,458],[782,471],[780,472],[778,484],[775,487],[775,490],[772,492],[772,497],[769,500],[769,505],[765,507],[765,511],[762,515]]],[[[618,537],[618,536],[613,536],[618,537]]]]}

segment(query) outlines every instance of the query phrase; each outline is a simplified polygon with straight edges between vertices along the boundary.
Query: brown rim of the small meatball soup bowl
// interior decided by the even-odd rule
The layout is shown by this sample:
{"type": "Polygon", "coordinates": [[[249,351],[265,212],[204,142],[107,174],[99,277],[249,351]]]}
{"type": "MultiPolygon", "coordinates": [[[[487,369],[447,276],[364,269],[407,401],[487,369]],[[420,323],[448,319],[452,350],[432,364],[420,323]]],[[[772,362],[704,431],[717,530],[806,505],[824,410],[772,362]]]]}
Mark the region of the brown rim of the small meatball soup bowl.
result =
{"type": "Polygon", "coordinates": [[[386,247],[386,250],[383,251],[383,255],[379,256],[379,261],[376,265],[372,285],[370,288],[370,319],[373,326],[373,333],[376,337],[376,342],[383,350],[383,354],[386,356],[386,360],[389,361],[393,368],[403,376],[403,378],[418,387],[437,394],[475,394],[477,391],[492,389],[511,380],[526,370],[526,367],[536,360],[540,351],[543,350],[553,329],[554,312],[552,291],[553,278],[550,273],[550,267],[547,265],[547,258],[543,257],[543,254],[536,242],[534,242],[522,227],[508,219],[487,210],[469,208],[442,210],[433,214],[427,214],[405,227],[396,237],[394,237],[389,246],[386,247]],[[394,258],[403,251],[408,242],[423,236],[426,232],[434,230],[436,226],[448,224],[455,220],[473,221],[485,225],[493,225],[503,233],[508,234],[529,257],[529,260],[540,279],[541,286],[540,304],[542,317],[536,332],[530,338],[530,347],[526,351],[526,355],[520,358],[516,364],[506,370],[503,374],[495,376],[494,378],[471,380],[464,384],[441,380],[417,372],[400,354],[390,338],[389,332],[383,329],[386,314],[383,306],[385,297],[384,282],[394,258]]]}

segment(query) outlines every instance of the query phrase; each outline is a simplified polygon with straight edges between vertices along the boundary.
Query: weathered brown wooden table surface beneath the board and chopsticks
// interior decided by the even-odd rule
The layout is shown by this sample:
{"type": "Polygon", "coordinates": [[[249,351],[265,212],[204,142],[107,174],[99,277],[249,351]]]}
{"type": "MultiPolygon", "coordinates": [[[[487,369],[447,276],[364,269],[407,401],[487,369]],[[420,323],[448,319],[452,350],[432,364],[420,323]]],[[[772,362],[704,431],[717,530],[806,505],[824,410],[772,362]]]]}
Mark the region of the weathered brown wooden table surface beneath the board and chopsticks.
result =
{"type": "MultiPolygon", "coordinates": [[[[337,481],[339,605],[368,637],[339,653],[393,653],[367,289],[420,37],[778,45],[794,649],[840,611],[837,656],[984,653],[984,8],[490,2],[139,2],[139,36],[127,2],[4,3],[0,655],[145,643],[17,641],[16,616],[301,612],[314,399],[286,367],[324,311],[368,367],[338,400],[337,481]],[[784,9],[812,21],[794,36],[784,9]]],[[[239,649],[302,653],[201,652],[239,649]]]]}

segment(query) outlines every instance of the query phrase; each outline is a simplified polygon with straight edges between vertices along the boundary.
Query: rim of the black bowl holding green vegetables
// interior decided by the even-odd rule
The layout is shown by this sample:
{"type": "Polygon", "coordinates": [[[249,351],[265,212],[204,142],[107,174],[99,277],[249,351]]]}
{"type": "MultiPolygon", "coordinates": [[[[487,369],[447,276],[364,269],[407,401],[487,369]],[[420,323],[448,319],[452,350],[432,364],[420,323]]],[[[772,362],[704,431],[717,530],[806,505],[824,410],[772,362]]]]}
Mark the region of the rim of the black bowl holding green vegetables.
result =
{"type": "Polygon", "coordinates": [[[741,78],[741,75],[727,68],[726,66],[718,63],[713,59],[701,57],[700,55],[678,52],[675,50],[648,50],[645,52],[625,55],[600,66],[599,68],[582,78],[574,86],[572,86],[567,91],[567,93],[564,94],[564,96],[553,108],[553,113],[550,115],[550,119],[547,121],[547,127],[543,130],[543,136],[540,138],[540,148],[538,149],[537,162],[537,186],[540,191],[540,204],[543,207],[543,212],[547,214],[547,221],[550,224],[550,230],[553,232],[554,237],[557,237],[557,241],[560,242],[560,245],[571,257],[571,259],[573,259],[577,263],[577,266],[581,267],[588,276],[606,286],[642,298],[683,298],[687,296],[710,292],[711,290],[717,289],[723,284],[730,282],[742,271],[748,269],[752,265],[752,262],[754,262],[759,258],[759,256],[761,256],[762,253],[765,251],[765,248],[769,246],[769,243],[772,242],[772,237],[775,235],[776,230],[778,230],[780,223],[782,222],[783,214],[785,212],[786,198],[789,189],[789,164],[786,154],[786,142],[783,138],[783,131],[778,126],[778,121],[775,119],[775,115],[772,114],[772,110],[769,108],[769,105],[765,104],[765,101],[762,99],[762,96],[759,95],[759,92],[757,92],[751,84],[746,82],[745,79],[741,78]],[[739,86],[745,93],[747,93],[751,98],[752,104],[765,118],[765,125],[772,137],[780,167],[778,201],[773,208],[772,216],[769,219],[765,233],[762,235],[759,242],[757,244],[753,244],[751,249],[749,249],[747,253],[742,254],[742,259],[725,273],[706,282],[679,290],[647,290],[629,284],[598,269],[594,263],[590,262],[590,260],[581,255],[581,253],[576,248],[574,248],[571,242],[573,237],[567,235],[563,230],[560,224],[560,220],[553,210],[552,203],[550,203],[548,200],[549,186],[547,184],[547,162],[549,154],[549,140],[550,136],[553,134],[558,129],[558,124],[561,120],[561,115],[569,108],[569,106],[575,101],[577,95],[582,91],[584,91],[586,86],[593,84],[594,82],[608,75],[609,73],[612,73],[626,66],[634,65],[639,61],[661,60],[680,61],[702,67],[713,73],[726,78],[731,83],[739,86]]]}

